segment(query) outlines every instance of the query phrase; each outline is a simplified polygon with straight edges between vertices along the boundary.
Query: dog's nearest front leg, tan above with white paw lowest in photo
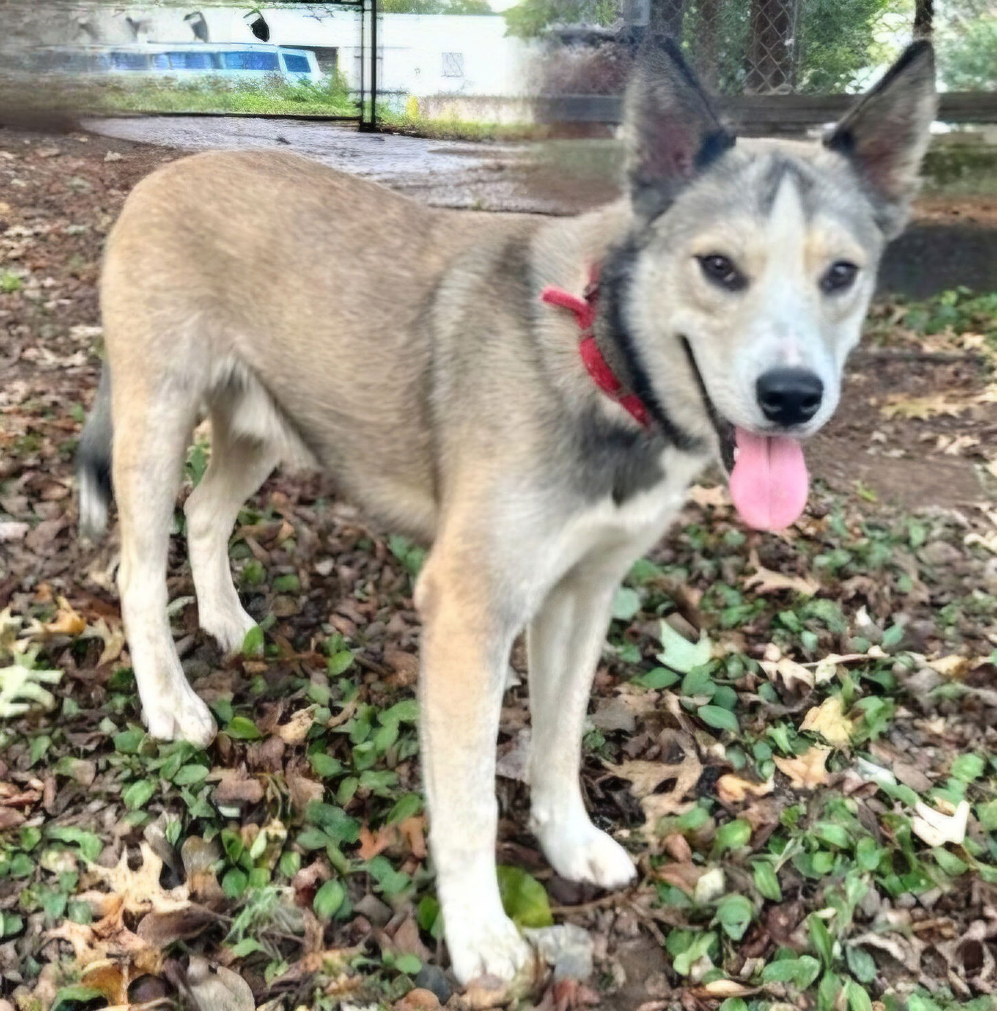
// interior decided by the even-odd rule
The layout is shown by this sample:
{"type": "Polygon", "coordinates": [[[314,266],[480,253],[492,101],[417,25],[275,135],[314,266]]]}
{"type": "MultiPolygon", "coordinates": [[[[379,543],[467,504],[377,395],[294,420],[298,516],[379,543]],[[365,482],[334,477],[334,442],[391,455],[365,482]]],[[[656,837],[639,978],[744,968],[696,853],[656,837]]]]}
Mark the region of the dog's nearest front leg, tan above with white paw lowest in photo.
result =
{"type": "Polygon", "coordinates": [[[416,590],[420,722],[444,932],[461,983],[512,979],[531,957],[495,876],[495,738],[517,620],[480,564],[438,545],[416,590]]]}

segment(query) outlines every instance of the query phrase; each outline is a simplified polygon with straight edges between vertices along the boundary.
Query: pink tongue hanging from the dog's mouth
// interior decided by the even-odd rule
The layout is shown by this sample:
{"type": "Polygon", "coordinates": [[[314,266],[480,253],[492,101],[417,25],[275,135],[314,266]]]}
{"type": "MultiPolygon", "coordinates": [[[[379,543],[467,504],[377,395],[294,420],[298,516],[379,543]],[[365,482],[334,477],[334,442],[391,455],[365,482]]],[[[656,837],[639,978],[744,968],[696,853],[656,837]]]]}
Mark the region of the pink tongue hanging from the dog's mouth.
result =
{"type": "Polygon", "coordinates": [[[795,439],[756,436],[735,429],[737,460],[730,496],[741,519],[754,530],[783,530],[807,504],[810,478],[795,439]]]}

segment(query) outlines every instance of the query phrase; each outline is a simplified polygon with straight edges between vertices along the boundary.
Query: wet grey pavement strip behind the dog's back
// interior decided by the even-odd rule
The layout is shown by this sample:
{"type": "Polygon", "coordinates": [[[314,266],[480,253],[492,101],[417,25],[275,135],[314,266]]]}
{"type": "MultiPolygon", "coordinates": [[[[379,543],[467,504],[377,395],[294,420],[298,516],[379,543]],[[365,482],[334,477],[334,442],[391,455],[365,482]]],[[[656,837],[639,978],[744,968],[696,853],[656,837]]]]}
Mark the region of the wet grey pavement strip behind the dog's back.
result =
{"type": "Polygon", "coordinates": [[[441,207],[564,214],[591,202],[570,188],[539,184],[536,159],[522,145],[360,133],[332,122],[234,116],[122,116],[82,125],[118,140],[186,151],[294,151],[441,207]]]}

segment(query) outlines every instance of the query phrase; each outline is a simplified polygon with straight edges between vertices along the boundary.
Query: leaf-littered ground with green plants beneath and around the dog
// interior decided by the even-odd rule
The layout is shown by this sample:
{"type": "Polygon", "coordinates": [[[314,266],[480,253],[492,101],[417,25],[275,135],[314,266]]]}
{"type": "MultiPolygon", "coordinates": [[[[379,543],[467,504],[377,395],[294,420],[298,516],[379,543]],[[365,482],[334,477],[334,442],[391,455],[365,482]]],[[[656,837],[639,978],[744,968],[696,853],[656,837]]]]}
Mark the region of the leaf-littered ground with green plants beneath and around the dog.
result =
{"type": "MultiPolygon", "coordinates": [[[[419,548],[326,479],[275,475],[232,540],[261,631],[224,664],[197,631],[178,511],[174,632],[221,732],[207,751],[143,732],[113,537],[76,543],[71,461],[101,241],[173,157],[0,140],[0,1009],[484,1003],[452,992],[427,860],[419,548]]],[[[746,534],[707,482],[634,566],[582,770],[638,862],[631,890],[547,868],[510,691],[504,899],[524,927],[587,930],[596,968],[520,1006],[992,1006],[994,308],[877,306],[805,518],[746,534]]]]}

